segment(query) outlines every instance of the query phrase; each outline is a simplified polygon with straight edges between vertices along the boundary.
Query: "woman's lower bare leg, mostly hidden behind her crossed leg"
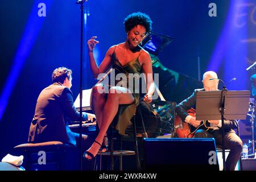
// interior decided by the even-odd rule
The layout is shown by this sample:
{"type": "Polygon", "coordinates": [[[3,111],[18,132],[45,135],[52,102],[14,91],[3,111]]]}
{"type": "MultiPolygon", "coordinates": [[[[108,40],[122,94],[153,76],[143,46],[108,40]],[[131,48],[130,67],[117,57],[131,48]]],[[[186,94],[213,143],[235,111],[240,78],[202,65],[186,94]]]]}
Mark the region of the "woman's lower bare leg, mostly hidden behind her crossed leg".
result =
{"type": "MultiPolygon", "coordinates": [[[[93,89],[92,89],[92,105],[94,109],[94,114],[96,115],[97,118],[97,123],[98,123],[98,128],[101,129],[101,122],[102,122],[102,115],[103,115],[103,109],[104,105],[106,103],[106,94],[103,92],[104,90],[104,84],[96,84],[93,89]]],[[[108,138],[106,137],[107,135],[105,134],[104,141],[102,144],[104,146],[108,146],[108,138]]],[[[102,148],[102,152],[105,152],[106,148],[102,148]]]]}

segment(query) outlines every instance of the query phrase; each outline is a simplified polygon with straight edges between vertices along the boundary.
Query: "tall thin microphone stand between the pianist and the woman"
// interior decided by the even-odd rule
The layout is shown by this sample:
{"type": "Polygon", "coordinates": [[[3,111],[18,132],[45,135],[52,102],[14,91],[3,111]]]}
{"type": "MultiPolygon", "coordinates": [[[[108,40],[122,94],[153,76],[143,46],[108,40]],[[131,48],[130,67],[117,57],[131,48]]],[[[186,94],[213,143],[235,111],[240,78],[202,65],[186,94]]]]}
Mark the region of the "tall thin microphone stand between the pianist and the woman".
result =
{"type": "Polygon", "coordinates": [[[79,161],[80,161],[80,171],[82,171],[82,40],[83,40],[83,27],[84,27],[84,2],[86,0],[77,0],[76,4],[80,5],[81,10],[81,34],[80,34],[80,117],[79,117],[79,161]]]}

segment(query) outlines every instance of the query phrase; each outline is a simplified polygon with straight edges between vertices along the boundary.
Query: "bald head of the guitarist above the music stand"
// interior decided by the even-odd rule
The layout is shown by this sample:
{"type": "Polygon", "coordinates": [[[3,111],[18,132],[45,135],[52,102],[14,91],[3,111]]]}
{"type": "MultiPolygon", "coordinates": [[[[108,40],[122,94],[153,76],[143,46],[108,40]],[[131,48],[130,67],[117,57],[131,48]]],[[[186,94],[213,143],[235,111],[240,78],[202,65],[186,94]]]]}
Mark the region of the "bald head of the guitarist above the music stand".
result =
{"type": "Polygon", "coordinates": [[[205,91],[212,91],[218,89],[218,80],[210,80],[210,78],[218,78],[213,71],[205,72],[203,75],[203,84],[205,91]]]}

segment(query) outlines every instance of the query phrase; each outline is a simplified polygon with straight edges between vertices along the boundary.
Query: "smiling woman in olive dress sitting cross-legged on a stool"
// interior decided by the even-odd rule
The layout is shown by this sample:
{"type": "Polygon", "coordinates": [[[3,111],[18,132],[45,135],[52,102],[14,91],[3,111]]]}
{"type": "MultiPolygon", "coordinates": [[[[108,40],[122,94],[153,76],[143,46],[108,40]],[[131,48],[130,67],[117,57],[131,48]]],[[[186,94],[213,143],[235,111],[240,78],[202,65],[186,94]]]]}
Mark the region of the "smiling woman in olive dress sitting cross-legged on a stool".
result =
{"type": "MultiPolygon", "coordinates": [[[[88,40],[90,68],[94,78],[97,78],[100,73],[108,72],[110,68],[115,69],[115,73],[124,73],[127,76],[126,83],[129,83],[130,79],[135,82],[138,81],[134,77],[130,78],[129,73],[138,73],[138,75],[144,73],[147,93],[143,100],[149,103],[152,101],[152,94],[155,89],[151,57],[139,44],[150,33],[152,21],[148,15],[138,12],[128,15],[123,23],[127,33],[126,41],[110,47],[99,67],[93,56],[93,50],[99,43],[96,40],[97,36],[88,40]]],[[[119,134],[124,134],[139,104],[139,93],[136,92],[135,88],[134,85],[123,86],[120,84],[120,80],[115,80],[115,85],[98,83],[93,87],[92,106],[97,117],[99,133],[92,146],[85,152],[84,157],[86,159],[93,159],[100,149],[103,152],[106,151],[106,131],[117,114],[119,105],[123,107],[116,128],[118,128],[119,134]],[[108,93],[99,92],[100,90],[108,90],[108,93]]]]}

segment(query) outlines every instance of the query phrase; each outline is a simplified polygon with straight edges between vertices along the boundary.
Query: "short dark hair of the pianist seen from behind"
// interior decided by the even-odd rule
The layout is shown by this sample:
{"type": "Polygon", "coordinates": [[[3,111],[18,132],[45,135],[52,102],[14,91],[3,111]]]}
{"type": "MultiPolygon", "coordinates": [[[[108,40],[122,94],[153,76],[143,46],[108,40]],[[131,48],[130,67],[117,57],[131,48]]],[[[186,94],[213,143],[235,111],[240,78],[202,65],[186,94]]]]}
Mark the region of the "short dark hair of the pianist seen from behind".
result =
{"type": "Polygon", "coordinates": [[[70,80],[71,78],[71,74],[72,74],[72,70],[65,68],[65,67],[59,67],[56,68],[53,72],[52,72],[52,82],[60,82],[61,84],[64,83],[65,78],[68,78],[68,80],[70,80]]]}

